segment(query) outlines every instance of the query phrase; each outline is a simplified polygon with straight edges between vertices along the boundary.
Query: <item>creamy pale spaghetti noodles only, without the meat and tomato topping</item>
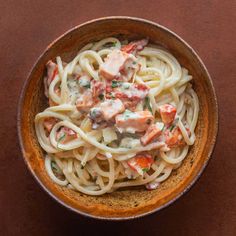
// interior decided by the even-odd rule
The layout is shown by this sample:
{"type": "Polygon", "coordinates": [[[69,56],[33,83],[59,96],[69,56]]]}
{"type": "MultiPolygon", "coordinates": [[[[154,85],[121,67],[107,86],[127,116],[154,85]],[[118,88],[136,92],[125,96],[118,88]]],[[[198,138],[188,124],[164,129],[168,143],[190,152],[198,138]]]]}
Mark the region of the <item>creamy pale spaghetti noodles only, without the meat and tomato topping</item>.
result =
{"type": "MultiPolygon", "coordinates": [[[[189,82],[192,76],[173,55],[155,45],[145,46],[130,56],[132,60],[137,60],[140,68],[126,80],[126,84],[144,84],[148,87],[145,99],[149,102],[154,123],[162,122],[160,106],[169,104],[176,108],[173,124],[164,124],[162,131],[171,133],[172,129],[179,130],[181,145],[167,145],[163,138],[143,145],[140,137],[144,131],[122,132],[117,129],[114,120],[94,128],[94,121],[88,116],[90,111],[78,109],[77,100],[81,96],[78,75],[87,75],[90,82],[106,83],[99,68],[107,60],[107,55],[122,47],[124,42],[106,38],[86,45],[67,64],[60,57],[56,58],[58,71],[48,85],[48,91],[45,91],[50,106],[36,115],[35,129],[38,141],[47,153],[46,171],[58,185],[89,195],[102,195],[118,188],[140,185],[153,189],[181,165],[189,146],[194,144],[199,103],[189,82]],[[45,129],[48,118],[56,121],[49,131],[45,129]],[[66,127],[65,132],[68,133],[62,133],[60,137],[62,127],[66,127]],[[73,132],[70,134],[71,130],[73,132]],[[63,140],[69,136],[70,139],[63,140]],[[140,172],[135,166],[132,168],[129,160],[147,154],[153,158],[147,169],[140,172]]],[[[103,98],[105,101],[109,99],[106,96],[103,98]]],[[[136,104],[132,112],[145,110],[145,101],[136,104]]],[[[93,107],[101,102],[98,101],[93,107]]]]}

